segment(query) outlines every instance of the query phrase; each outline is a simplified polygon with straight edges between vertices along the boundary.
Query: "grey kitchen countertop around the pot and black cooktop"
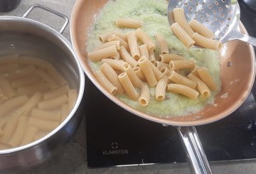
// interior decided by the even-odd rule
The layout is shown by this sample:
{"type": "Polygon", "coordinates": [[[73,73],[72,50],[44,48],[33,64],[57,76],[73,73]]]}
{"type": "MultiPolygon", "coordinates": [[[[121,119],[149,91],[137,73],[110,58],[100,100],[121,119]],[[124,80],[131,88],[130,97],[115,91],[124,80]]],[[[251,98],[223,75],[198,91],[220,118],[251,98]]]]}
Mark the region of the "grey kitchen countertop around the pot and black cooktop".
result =
{"type": "MultiPolygon", "coordinates": [[[[71,11],[75,0],[21,0],[21,4],[11,12],[0,13],[0,16],[22,16],[23,13],[32,4],[42,4],[51,9],[55,9],[60,13],[64,13],[70,18],[71,11]]],[[[28,18],[33,18],[42,23],[59,30],[63,20],[57,16],[41,10],[33,11],[28,18]]],[[[70,40],[69,26],[63,33],[65,38],[70,40]]],[[[210,163],[213,173],[255,173],[256,161],[233,161],[210,163]]],[[[78,131],[70,142],[65,146],[63,152],[54,156],[42,165],[31,170],[23,171],[23,174],[31,173],[190,173],[188,165],[183,164],[157,164],[157,165],[141,165],[119,168],[88,168],[87,167],[87,151],[85,140],[85,119],[82,120],[78,131]]]]}

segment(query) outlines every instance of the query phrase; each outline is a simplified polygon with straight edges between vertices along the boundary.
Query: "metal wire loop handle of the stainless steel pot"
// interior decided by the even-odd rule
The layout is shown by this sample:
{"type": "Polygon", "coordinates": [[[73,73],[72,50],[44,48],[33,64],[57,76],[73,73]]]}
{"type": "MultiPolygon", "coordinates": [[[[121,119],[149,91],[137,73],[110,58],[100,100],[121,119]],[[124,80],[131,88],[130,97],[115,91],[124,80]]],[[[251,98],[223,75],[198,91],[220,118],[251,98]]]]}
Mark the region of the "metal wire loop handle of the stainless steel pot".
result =
{"type": "Polygon", "coordinates": [[[28,16],[28,14],[29,13],[31,13],[31,11],[33,10],[33,9],[35,9],[35,8],[40,8],[40,9],[43,9],[43,10],[45,10],[45,11],[48,11],[48,12],[50,12],[50,13],[53,13],[53,14],[55,14],[55,15],[57,15],[57,16],[60,16],[61,18],[64,18],[65,19],[65,23],[63,24],[63,27],[60,29],[60,31],[59,31],[59,33],[60,34],[62,34],[63,33],[63,31],[65,30],[65,28],[68,26],[68,17],[67,16],[65,16],[63,13],[60,13],[60,12],[58,12],[58,11],[55,11],[55,10],[53,10],[53,9],[50,9],[50,8],[48,8],[47,6],[42,6],[42,5],[40,5],[40,4],[33,4],[29,9],[28,9],[28,11],[26,11],[26,13],[24,13],[23,14],[23,18],[26,18],[27,16],[28,16]]]}

